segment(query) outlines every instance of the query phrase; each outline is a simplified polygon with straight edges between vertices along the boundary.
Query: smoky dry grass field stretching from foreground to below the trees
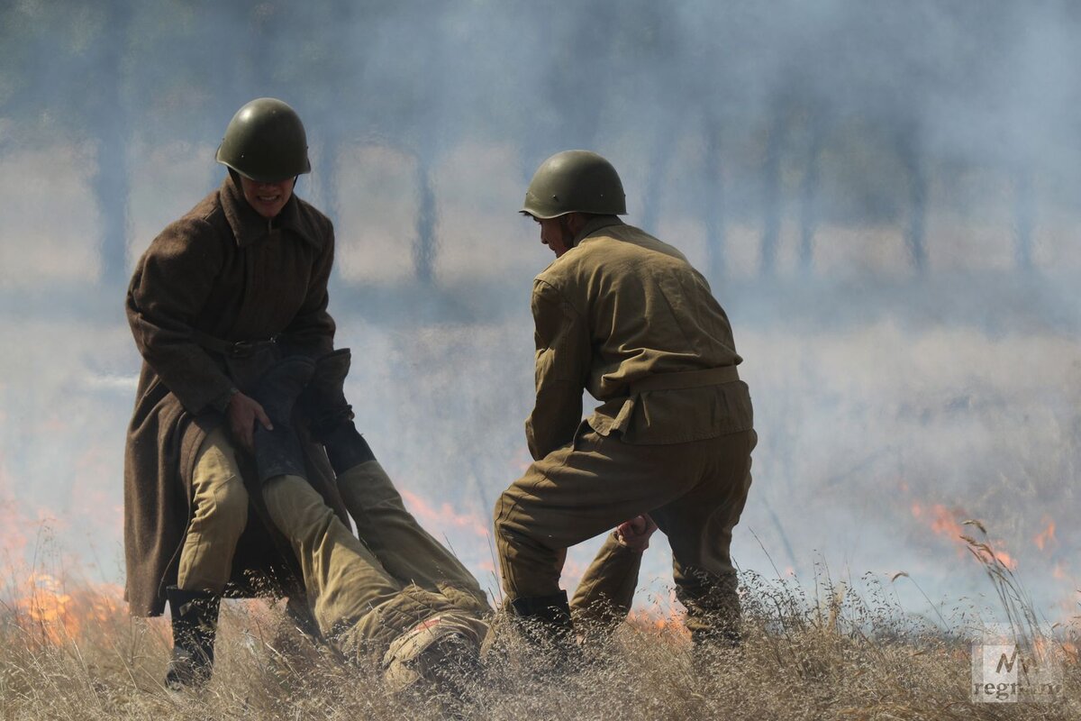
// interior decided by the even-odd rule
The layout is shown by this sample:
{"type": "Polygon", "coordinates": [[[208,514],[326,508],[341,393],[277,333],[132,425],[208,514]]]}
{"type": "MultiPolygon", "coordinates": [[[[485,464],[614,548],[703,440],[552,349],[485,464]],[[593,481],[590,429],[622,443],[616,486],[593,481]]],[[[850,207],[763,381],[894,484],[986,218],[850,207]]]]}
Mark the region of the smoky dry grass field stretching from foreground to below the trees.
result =
{"type": "MultiPolygon", "coordinates": [[[[456,712],[1081,718],[1072,636],[1081,629],[1071,626],[1081,586],[1070,533],[1081,463],[1073,335],[1039,324],[1017,330],[1016,322],[924,328],[890,318],[825,329],[746,325],[740,344],[761,442],[736,559],[765,575],[744,576],[742,651],[693,656],[678,617],[650,599],[652,611],[592,649],[587,667],[558,678],[490,667],[456,712]],[[988,522],[990,540],[963,524],[974,516],[988,522]],[[824,560],[809,564],[816,552],[824,560]],[[866,570],[875,573],[860,578],[866,570]],[[986,627],[992,616],[1059,662],[1057,700],[971,700],[971,643],[1002,630],[986,627]],[[1045,616],[1060,625],[1036,622],[1045,616]]],[[[0,548],[30,561],[0,558],[0,719],[425,719],[454,710],[387,698],[373,669],[344,664],[283,627],[280,609],[263,601],[225,604],[217,672],[203,692],[166,692],[168,623],[129,618],[119,588],[70,573],[121,575],[94,559],[109,557],[121,528],[116,479],[131,388],[130,376],[112,369],[130,365],[126,331],[103,338],[63,321],[22,331],[42,342],[0,362],[8,379],[0,387],[0,548]],[[80,361],[50,346],[55,338],[77,348],[80,361]],[[50,516],[66,546],[90,539],[79,553],[57,552],[63,562],[41,560],[49,544],[35,550],[35,525],[50,516]]],[[[344,338],[365,342],[349,387],[362,399],[362,427],[396,483],[415,496],[422,522],[484,580],[488,512],[523,462],[520,425],[507,419],[528,411],[529,332],[516,319],[342,328],[344,338]]],[[[652,577],[670,578],[665,544],[656,546],[643,564],[640,605],[657,592],[652,577]]]]}

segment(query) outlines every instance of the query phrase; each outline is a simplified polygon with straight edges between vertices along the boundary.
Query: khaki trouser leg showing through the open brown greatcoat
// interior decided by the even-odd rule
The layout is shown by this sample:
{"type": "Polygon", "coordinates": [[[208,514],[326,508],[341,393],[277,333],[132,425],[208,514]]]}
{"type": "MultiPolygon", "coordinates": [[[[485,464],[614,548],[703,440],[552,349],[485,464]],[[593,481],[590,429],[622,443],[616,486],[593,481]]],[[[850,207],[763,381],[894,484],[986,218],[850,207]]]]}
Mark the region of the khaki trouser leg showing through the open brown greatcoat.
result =
{"type": "Polygon", "coordinates": [[[211,431],[199,446],[191,490],[191,522],[181,549],[176,585],[188,591],[221,593],[248,524],[248,491],[225,427],[211,431]]]}

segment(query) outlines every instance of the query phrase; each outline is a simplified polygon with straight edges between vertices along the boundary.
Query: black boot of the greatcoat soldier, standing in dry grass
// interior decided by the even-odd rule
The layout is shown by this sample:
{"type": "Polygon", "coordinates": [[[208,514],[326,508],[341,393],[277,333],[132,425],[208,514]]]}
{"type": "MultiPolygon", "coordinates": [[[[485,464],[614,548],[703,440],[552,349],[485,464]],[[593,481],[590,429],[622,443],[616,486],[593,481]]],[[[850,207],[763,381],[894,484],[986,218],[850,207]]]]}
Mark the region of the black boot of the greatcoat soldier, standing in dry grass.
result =
{"type": "Polygon", "coordinates": [[[165,686],[173,691],[199,687],[214,668],[214,638],[221,597],[206,591],[165,589],[173,622],[173,657],[165,671],[165,686]]]}

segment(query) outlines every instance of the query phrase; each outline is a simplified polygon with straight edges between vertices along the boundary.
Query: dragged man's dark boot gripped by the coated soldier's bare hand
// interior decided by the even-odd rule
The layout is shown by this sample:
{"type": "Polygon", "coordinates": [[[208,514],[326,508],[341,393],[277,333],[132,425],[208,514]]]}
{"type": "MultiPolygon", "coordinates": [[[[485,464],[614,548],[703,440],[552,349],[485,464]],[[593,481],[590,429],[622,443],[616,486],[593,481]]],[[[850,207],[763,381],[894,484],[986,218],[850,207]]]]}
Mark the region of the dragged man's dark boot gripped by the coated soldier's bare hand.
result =
{"type": "Polygon", "coordinates": [[[278,476],[307,477],[304,449],[291,418],[315,368],[315,361],[306,356],[290,356],[267,371],[252,393],[273,425],[273,430],[267,430],[255,424],[255,467],[261,483],[278,476]]]}

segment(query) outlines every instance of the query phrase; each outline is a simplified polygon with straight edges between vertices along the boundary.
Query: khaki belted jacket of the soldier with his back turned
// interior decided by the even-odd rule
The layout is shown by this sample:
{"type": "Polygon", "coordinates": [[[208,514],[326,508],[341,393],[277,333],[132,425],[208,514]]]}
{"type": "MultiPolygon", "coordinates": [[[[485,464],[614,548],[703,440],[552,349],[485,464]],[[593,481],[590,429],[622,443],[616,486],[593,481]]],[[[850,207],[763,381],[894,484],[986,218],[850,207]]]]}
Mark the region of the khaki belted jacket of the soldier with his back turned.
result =
{"type": "Polygon", "coordinates": [[[637,391],[658,374],[742,362],[728,316],[678,250],[600,216],[533,283],[536,404],[525,422],[536,459],[574,440],[582,392],[601,401],[587,423],[624,442],[668,444],[748,430],[742,380],[637,391]]]}

